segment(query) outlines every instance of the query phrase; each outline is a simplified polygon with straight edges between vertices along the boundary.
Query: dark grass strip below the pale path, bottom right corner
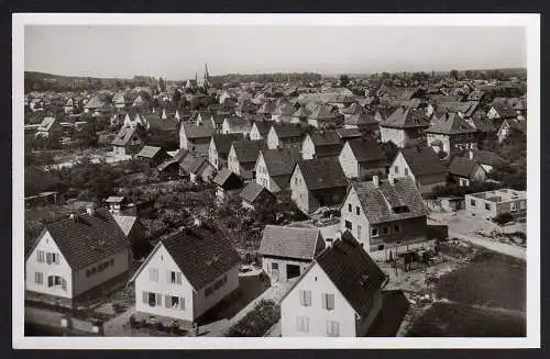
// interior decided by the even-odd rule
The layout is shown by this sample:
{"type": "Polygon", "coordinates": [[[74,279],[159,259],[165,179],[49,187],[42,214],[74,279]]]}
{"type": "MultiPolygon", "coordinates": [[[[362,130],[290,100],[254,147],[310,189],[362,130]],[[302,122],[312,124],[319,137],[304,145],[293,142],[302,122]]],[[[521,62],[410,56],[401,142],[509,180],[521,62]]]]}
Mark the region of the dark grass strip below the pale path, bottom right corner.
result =
{"type": "Polygon", "coordinates": [[[525,317],[460,303],[435,303],[408,330],[410,337],[522,337],[525,317]]]}

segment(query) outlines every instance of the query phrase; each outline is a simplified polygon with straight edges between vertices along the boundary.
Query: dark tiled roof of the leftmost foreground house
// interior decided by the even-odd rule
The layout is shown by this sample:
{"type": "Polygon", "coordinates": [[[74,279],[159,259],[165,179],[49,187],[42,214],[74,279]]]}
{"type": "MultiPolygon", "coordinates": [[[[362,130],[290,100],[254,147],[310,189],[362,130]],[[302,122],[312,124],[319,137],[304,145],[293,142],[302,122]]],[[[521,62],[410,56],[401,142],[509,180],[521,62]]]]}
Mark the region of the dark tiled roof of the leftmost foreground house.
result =
{"type": "Polygon", "coordinates": [[[130,245],[113,216],[102,209],[91,215],[75,214],[74,218],[46,224],[44,231],[52,235],[73,270],[103,260],[130,245]]]}

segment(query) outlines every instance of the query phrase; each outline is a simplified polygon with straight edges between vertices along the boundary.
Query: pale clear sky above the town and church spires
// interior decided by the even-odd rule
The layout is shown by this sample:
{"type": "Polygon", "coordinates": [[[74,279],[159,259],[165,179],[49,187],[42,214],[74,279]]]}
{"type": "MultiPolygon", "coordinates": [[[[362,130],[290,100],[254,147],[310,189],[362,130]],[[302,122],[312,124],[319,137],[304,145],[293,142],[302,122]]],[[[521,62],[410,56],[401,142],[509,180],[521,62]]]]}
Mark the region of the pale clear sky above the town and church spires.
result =
{"type": "Polygon", "coordinates": [[[513,26],[26,25],[24,68],[173,80],[210,75],[526,67],[513,26]]]}

